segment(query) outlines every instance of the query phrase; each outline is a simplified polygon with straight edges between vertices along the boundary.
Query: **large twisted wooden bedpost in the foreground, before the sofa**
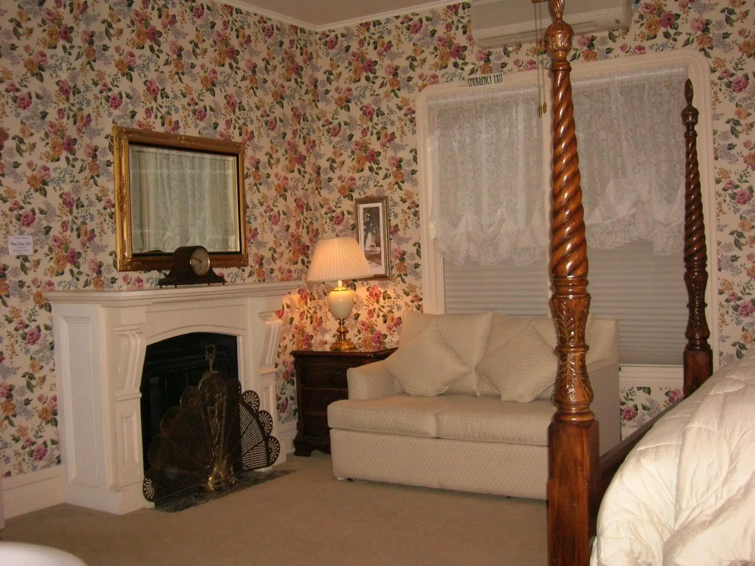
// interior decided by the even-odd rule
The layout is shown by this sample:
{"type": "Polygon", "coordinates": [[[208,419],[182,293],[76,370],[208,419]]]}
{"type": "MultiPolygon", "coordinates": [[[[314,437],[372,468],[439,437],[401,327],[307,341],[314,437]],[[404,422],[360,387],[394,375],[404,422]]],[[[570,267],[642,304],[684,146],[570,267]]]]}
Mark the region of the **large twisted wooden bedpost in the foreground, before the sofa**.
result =
{"type": "Polygon", "coordinates": [[[550,423],[548,479],[548,559],[552,566],[590,561],[589,510],[599,484],[598,422],[590,411],[593,391],[587,376],[584,328],[590,310],[587,293],[587,241],[575,136],[572,27],[563,21],[564,0],[550,0],[553,23],[553,208],[550,271],[553,312],[559,328],[556,414],[550,423]]]}

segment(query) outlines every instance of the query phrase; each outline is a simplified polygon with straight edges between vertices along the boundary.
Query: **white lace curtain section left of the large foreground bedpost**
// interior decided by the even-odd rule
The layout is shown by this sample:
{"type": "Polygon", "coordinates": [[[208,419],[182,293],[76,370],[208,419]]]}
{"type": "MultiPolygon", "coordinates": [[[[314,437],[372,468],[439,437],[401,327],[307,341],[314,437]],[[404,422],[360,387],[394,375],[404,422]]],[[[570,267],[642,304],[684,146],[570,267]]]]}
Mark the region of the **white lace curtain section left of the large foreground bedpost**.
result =
{"type": "Polygon", "coordinates": [[[547,245],[543,131],[536,85],[428,102],[430,223],[444,257],[529,262],[547,245]]]}

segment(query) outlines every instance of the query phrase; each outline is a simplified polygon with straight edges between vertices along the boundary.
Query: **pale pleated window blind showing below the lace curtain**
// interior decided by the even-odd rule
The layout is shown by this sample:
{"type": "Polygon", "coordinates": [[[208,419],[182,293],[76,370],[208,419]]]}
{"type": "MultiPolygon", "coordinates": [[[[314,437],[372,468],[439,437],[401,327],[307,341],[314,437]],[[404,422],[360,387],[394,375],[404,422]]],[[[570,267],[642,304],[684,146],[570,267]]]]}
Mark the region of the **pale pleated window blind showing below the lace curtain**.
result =
{"type": "MultiPolygon", "coordinates": [[[[687,291],[681,255],[658,256],[652,242],[588,249],[590,312],[618,321],[622,365],[680,365],[686,344],[687,291]]],[[[550,316],[548,263],[495,266],[443,263],[445,312],[550,316]]]]}

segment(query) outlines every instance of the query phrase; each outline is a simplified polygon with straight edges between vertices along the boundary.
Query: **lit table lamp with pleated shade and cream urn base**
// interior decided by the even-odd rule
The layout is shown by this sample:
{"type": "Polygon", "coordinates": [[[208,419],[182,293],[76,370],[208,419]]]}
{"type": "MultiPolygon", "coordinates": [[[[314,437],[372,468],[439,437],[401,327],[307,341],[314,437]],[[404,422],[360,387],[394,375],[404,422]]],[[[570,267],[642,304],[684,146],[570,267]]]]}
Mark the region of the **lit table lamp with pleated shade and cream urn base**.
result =
{"type": "Polygon", "coordinates": [[[354,238],[322,238],[315,246],[307,281],[322,283],[338,281],[338,286],[328,294],[328,308],[338,321],[337,340],[331,344],[331,350],[347,352],[355,349],[356,344],[346,337],[346,319],[354,306],[354,292],[344,287],[344,279],[370,277],[372,269],[359,242],[354,238]]]}

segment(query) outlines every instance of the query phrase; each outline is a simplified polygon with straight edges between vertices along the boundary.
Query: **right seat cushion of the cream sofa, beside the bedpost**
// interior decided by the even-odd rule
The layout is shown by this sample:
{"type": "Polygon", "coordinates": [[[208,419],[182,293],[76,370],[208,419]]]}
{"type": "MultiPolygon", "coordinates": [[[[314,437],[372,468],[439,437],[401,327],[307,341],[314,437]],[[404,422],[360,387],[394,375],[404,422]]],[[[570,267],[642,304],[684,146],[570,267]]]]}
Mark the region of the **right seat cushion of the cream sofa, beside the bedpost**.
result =
{"type": "Polygon", "coordinates": [[[488,395],[440,411],[439,438],[548,445],[550,401],[516,403],[488,395]]]}

